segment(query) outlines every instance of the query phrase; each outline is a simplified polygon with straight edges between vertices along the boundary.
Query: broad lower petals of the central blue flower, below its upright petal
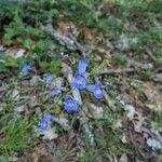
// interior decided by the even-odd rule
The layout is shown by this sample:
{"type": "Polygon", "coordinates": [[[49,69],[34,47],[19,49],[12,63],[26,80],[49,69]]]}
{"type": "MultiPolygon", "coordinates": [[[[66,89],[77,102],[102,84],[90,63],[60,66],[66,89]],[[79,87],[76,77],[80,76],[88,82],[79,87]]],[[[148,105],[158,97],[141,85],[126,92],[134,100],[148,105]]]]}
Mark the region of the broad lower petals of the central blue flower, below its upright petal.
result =
{"type": "Polygon", "coordinates": [[[86,87],[86,79],[78,73],[75,76],[71,86],[75,89],[83,90],[86,87]]]}

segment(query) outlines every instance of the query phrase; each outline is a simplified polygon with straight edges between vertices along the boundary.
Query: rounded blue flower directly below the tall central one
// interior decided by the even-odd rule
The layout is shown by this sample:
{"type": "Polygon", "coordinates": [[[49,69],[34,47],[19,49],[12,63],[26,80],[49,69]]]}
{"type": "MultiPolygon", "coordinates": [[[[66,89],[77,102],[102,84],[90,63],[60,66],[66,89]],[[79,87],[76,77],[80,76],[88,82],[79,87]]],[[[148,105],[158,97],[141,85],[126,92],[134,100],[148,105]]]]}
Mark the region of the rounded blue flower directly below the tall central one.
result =
{"type": "Polygon", "coordinates": [[[78,104],[71,95],[65,96],[64,108],[66,111],[77,111],[78,110],[78,104]]]}

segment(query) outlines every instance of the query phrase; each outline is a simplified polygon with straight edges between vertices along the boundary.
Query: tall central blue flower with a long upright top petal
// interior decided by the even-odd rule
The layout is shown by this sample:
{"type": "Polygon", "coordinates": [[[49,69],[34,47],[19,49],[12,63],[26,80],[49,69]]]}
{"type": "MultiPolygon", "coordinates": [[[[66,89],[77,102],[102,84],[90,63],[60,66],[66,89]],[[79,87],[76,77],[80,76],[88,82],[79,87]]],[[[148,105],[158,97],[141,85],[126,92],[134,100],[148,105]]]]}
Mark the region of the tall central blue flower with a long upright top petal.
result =
{"type": "Polygon", "coordinates": [[[73,77],[71,86],[75,89],[83,90],[86,87],[86,70],[87,63],[84,59],[79,60],[79,70],[73,77]]]}

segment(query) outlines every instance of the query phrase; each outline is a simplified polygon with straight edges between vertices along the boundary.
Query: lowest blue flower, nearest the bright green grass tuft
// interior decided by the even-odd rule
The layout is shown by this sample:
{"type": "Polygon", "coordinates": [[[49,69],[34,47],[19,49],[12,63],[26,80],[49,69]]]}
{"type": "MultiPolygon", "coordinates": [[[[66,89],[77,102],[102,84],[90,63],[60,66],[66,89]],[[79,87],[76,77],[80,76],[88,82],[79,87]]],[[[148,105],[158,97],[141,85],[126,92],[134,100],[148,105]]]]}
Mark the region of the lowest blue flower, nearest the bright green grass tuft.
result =
{"type": "Polygon", "coordinates": [[[39,122],[39,129],[43,132],[46,131],[50,126],[53,116],[51,113],[45,114],[39,122]]]}

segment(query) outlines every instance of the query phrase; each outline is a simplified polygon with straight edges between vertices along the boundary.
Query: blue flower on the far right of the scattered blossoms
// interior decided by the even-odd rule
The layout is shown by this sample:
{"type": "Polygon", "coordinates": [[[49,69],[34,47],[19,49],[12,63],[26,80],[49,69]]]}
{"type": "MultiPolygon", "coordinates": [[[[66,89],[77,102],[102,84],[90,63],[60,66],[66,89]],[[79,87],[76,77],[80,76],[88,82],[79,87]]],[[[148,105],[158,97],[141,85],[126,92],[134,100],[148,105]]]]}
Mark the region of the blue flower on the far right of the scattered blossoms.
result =
{"type": "Polygon", "coordinates": [[[97,82],[95,84],[86,85],[86,90],[92,92],[93,95],[97,99],[103,99],[104,98],[104,92],[100,89],[102,86],[103,86],[103,84],[100,82],[97,82]]]}

